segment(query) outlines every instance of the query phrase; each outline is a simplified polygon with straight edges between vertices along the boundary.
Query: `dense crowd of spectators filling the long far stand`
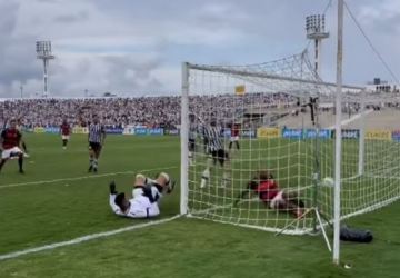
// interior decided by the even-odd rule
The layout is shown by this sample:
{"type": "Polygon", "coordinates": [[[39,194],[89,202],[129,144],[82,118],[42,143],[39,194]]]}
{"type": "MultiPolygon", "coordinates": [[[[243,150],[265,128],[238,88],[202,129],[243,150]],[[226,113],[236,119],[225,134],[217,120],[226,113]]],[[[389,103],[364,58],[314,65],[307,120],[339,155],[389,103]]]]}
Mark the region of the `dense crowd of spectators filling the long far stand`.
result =
{"type": "MultiPolygon", "coordinates": [[[[244,96],[192,96],[189,109],[204,119],[233,119],[249,107],[290,106],[297,98],[284,93],[244,96]]],[[[28,128],[58,127],[63,119],[72,126],[86,126],[93,115],[103,125],[123,128],[128,125],[151,128],[176,128],[180,125],[181,98],[87,98],[87,99],[17,99],[0,101],[0,125],[7,119],[21,119],[28,128]]]]}

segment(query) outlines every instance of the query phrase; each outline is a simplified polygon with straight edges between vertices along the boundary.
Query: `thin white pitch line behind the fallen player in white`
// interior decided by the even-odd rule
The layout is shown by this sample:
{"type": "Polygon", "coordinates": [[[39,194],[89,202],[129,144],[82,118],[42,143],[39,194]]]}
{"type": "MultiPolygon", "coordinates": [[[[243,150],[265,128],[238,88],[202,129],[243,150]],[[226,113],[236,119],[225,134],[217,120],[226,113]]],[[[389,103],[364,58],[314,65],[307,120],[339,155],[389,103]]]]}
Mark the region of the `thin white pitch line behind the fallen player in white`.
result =
{"type": "Polygon", "coordinates": [[[138,170],[138,171],[121,171],[121,172],[108,172],[108,173],[100,173],[100,175],[91,175],[91,176],[82,176],[82,177],[76,177],[76,178],[64,178],[64,179],[52,179],[52,180],[38,180],[38,181],[30,181],[30,182],[21,182],[21,183],[10,183],[10,185],[0,185],[0,189],[3,188],[10,188],[10,187],[22,187],[22,186],[31,186],[31,185],[42,185],[42,183],[54,183],[60,181],[73,181],[73,180],[82,180],[82,179],[94,179],[94,178],[102,178],[102,177],[110,177],[110,176],[117,176],[117,175],[133,175],[137,172],[149,172],[149,171],[157,171],[157,170],[169,170],[169,169],[176,169],[178,167],[159,167],[153,169],[144,169],[144,170],[138,170]]]}

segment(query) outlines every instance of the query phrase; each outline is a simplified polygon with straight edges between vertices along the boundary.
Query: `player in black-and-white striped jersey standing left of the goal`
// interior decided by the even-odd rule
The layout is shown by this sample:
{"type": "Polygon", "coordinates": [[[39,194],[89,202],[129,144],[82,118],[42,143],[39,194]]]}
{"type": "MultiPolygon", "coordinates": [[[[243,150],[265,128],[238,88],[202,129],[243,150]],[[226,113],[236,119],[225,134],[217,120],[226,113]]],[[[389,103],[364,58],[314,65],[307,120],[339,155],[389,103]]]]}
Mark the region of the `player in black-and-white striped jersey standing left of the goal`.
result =
{"type": "Polygon", "coordinates": [[[93,122],[89,125],[89,172],[98,171],[99,157],[106,139],[106,129],[100,123],[99,117],[93,115],[93,122]]]}

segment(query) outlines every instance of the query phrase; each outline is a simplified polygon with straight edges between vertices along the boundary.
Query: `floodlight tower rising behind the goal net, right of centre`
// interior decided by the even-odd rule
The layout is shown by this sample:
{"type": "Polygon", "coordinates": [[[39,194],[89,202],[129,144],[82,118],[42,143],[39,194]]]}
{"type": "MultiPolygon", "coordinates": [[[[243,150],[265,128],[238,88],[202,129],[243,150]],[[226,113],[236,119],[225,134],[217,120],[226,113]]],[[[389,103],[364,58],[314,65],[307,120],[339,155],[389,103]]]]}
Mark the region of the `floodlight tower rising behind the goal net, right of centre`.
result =
{"type": "Polygon", "coordinates": [[[324,30],[324,14],[313,14],[306,17],[307,39],[314,41],[314,70],[321,76],[321,49],[322,40],[329,38],[329,32],[324,30]]]}

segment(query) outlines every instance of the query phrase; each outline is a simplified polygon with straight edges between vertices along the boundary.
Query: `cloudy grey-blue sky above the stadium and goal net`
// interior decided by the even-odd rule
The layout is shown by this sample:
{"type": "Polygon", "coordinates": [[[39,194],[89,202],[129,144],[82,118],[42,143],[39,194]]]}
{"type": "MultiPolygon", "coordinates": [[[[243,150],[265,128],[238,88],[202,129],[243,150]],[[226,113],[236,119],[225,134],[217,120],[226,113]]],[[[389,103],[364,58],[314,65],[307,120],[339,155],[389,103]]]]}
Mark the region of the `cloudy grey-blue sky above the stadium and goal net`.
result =
{"type": "MultiPolygon", "coordinates": [[[[53,97],[179,95],[181,63],[249,64],[300,53],[304,18],[329,0],[0,0],[0,98],[41,95],[36,41],[52,42],[53,97]]],[[[400,1],[347,0],[400,76],[400,1]]],[[[327,13],[321,77],[336,80],[337,0],[327,13]]],[[[344,14],[343,81],[393,81],[344,14]]],[[[312,46],[312,44],[311,44],[312,46]]],[[[312,48],[309,50],[312,52],[312,48]]]]}

